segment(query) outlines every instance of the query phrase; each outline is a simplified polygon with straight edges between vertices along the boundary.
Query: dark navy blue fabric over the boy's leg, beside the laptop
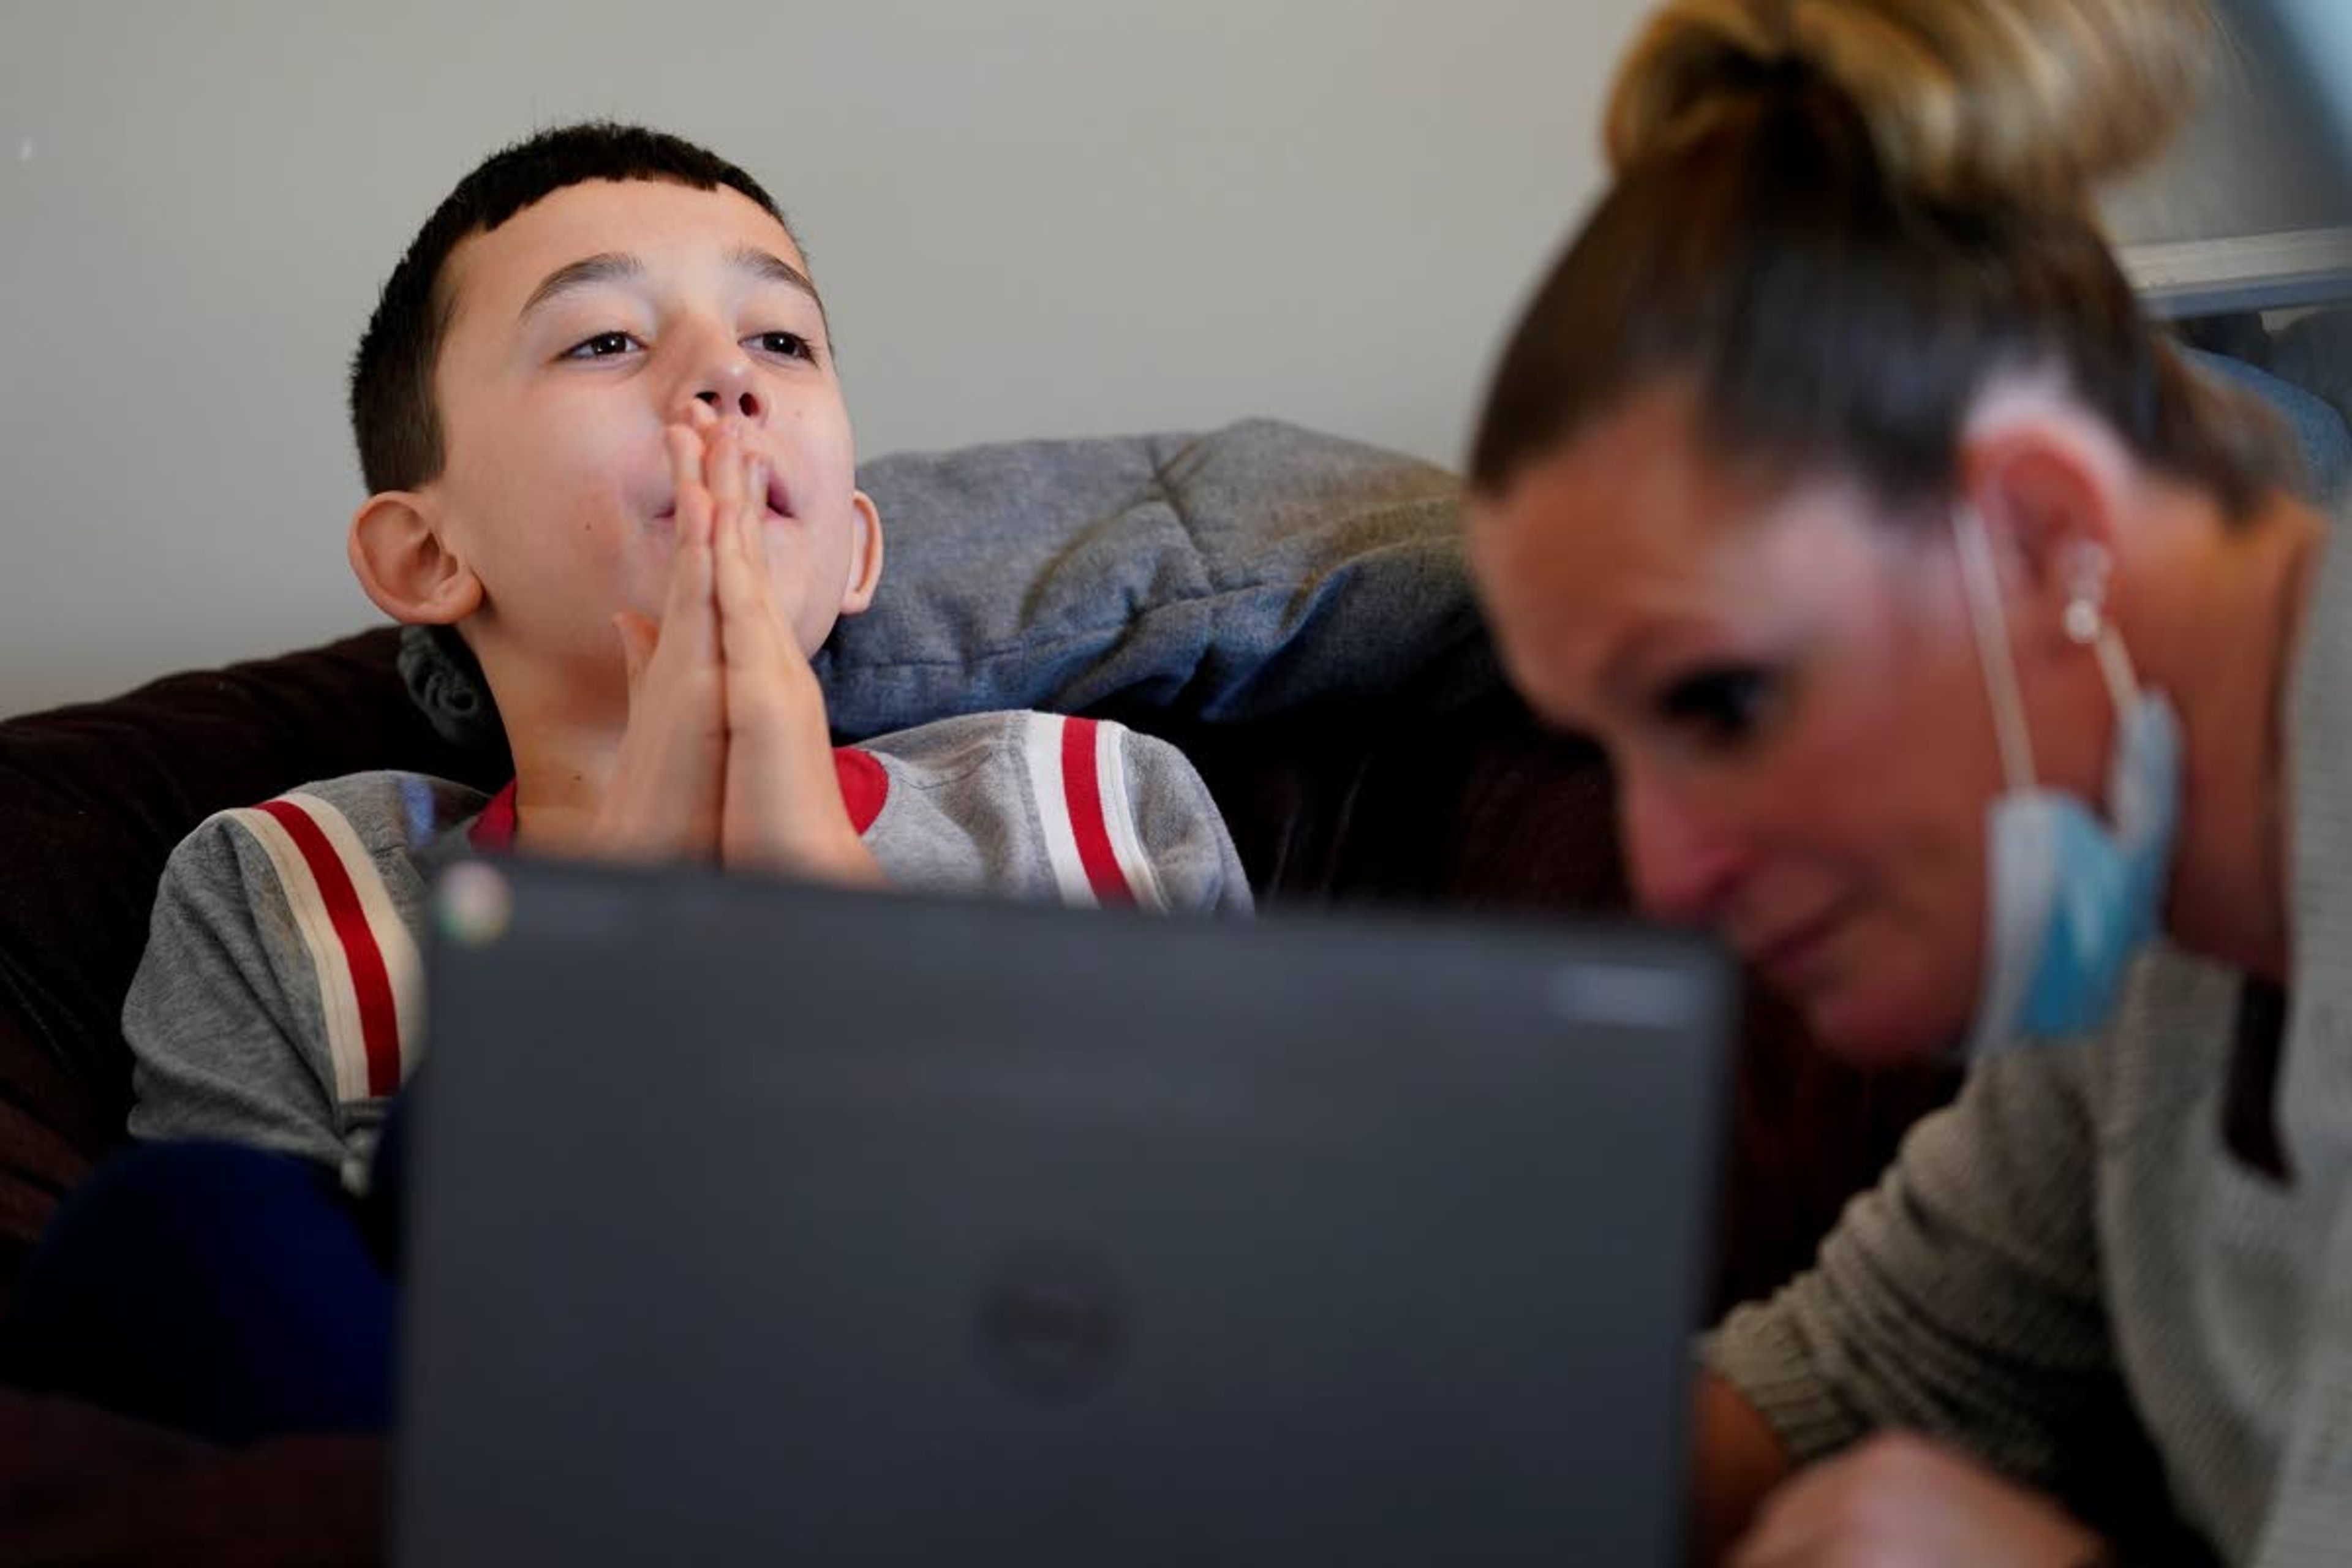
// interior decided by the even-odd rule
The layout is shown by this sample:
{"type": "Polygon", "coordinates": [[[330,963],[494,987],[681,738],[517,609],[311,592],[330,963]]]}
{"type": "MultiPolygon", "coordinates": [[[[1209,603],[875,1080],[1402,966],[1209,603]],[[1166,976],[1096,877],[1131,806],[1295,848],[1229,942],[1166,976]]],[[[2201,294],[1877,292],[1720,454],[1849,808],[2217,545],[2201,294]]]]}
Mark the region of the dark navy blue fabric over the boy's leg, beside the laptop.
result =
{"type": "Polygon", "coordinates": [[[383,1432],[395,1286],[379,1241],[395,1229],[292,1154],[134,1145],[26,1260],[0,1380],[216,1443],[383,1432]]]}

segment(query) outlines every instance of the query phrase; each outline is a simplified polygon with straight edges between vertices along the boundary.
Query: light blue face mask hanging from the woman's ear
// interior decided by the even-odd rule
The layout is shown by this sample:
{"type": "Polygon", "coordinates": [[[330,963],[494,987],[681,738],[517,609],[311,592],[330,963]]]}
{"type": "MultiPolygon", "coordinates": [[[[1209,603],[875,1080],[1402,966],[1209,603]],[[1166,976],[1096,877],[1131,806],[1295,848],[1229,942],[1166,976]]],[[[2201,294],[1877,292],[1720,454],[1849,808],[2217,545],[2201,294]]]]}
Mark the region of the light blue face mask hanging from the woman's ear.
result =
{"type": "Polygon", "coordinates": [[[2107,820],[2037,785],[1992,550],[1973,512],[1957,512],[1955,529],[2009,771],[2009,790],[1985,813],[1985,976],[1966,1041],[1976,1058],[2074,1039],[2114,1016],[2131,961],[2159,931],[2180,820],[2180,719],[2164,696],[2140,691],[2122,637],[2086,590],[2067,611],[2067,635],[2098,651],[2114,698],[2107,820]]]}

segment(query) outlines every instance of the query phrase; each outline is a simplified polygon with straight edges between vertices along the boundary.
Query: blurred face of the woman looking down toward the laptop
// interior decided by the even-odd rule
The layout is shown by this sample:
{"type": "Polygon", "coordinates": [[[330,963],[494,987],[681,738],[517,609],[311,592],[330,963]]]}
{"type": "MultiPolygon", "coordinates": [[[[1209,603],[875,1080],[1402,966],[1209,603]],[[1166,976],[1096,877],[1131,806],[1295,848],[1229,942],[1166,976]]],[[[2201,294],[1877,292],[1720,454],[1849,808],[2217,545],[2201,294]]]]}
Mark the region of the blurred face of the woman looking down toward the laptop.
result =
{"type": "Polygon", "coordinates": [[[1482,503],[1470,562],[1512,682],[1609,750],[1644,912],[1842,1053],[1964,1032],[2002,771],[1950,527],[1743,475],[1658,390],[1482,503]]]}

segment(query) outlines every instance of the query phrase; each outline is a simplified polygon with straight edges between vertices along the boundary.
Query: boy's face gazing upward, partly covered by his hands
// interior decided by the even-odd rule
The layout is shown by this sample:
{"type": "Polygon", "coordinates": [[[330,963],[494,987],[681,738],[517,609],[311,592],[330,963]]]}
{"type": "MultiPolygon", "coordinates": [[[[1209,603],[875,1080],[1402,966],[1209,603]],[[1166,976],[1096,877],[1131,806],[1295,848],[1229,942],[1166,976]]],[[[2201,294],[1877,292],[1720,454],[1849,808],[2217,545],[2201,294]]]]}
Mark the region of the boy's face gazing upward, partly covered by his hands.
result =
{"type": "Polygon", "coordinates": [[[612,696],[614,611],[661,616],[675,482],[663,428],[703,400],[774,475],[776,614],[814,651],[873,510],[807,266],[736,190],[569,186],[452,252],[435,367],[445,465],[423,487],[482,583],[485,663],[612,696]]]}

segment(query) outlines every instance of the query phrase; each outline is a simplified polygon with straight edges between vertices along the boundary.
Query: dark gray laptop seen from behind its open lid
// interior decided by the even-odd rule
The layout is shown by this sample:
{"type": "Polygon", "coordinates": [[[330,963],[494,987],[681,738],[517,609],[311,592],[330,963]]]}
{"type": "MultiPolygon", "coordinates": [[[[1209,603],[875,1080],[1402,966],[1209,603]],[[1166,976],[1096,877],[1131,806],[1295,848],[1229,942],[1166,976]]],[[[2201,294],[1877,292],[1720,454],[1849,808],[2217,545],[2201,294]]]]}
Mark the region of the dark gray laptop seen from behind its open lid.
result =
{"type": "Polygon", "coordinates": [[[445,884],[405,1563],[1670,1563],[1729,971],[445,884]]]}

